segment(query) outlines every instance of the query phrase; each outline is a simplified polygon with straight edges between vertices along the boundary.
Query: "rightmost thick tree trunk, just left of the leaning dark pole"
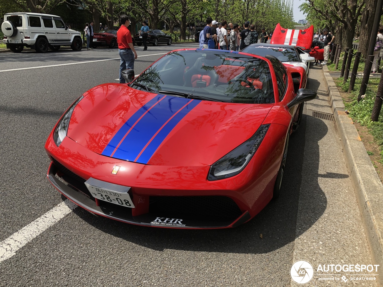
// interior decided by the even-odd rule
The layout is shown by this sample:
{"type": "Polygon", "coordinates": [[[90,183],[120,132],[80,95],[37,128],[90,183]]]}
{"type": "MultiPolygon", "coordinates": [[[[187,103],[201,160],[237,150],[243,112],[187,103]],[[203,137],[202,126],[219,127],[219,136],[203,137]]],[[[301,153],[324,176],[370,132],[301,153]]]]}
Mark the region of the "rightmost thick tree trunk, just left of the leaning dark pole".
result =
{"type": "Polygon", "coordinates": [[[370,43],[371,27],[374,24],[377,2],[377,0],[366,0],[366,7],[360,20],[358,51],[362,53],[362,58],[366,58],[368,56],[368,44],[370,43]]]}

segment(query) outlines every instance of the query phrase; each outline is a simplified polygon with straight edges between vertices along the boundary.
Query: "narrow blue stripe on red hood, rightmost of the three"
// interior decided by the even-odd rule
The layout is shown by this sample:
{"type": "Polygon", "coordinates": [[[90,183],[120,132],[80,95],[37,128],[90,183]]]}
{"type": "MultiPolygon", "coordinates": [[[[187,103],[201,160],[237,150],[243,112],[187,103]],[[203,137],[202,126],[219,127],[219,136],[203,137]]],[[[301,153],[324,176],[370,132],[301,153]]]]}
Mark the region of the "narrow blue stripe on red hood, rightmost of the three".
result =
{"type": "Polygon", "coordinates": [[[197,104],[201,101],[193,99],[186,107],[184,107],[179,113],[177,113],[155,136],[155,138],[149,143],[144,152],[136,160],[139,163],[147,163],[155,151],[159,148],[160,144],[164,139],[169,135],[169,133],[174,129],[174,127],[185,117],[197,104]]]}

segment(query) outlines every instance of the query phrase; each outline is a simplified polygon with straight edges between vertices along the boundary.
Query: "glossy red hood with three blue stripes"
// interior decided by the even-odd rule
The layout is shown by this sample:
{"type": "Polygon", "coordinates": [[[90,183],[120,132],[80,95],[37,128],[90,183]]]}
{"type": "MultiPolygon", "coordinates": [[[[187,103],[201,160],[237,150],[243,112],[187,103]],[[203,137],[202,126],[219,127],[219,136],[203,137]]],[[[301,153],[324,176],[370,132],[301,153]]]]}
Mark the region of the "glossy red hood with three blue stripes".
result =
{"type": "Polygon", "coordinates": [[[211,165],[249,139],[273,104],[233,104],[138,91],[89,90],[68,137],[95,153],[148,165],[211,165]]]}

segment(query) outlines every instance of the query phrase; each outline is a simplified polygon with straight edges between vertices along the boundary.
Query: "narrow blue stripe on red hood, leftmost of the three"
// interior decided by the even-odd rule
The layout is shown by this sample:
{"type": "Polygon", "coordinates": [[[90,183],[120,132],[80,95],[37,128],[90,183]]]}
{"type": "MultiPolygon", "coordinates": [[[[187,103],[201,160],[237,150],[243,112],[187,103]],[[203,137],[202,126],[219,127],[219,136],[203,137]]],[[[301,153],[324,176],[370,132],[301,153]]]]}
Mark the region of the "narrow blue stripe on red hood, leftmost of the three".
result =
{"type": "Polygon", "coordinates": [[[134,123],[148,110],[150,109],[155,103],[157,103],[161,98],[163,98],[164,95],[158,95],[152,98],[150,101],[148,101],[144,106],[142,106],[140,109],[136,111],[136,113],[131,116],[128,121],[123,124],[123,126],[116,132],[116,134],[113,136],[113,138],[110,140],[108,145],[104,148],[102,155],[106,155],[110,157],[113,153],[113,151],[116,149],[118,143],[123,139],[123,137],[126,135],[126,133],[129,131],[129,129],[134,125],[134,123]]]}

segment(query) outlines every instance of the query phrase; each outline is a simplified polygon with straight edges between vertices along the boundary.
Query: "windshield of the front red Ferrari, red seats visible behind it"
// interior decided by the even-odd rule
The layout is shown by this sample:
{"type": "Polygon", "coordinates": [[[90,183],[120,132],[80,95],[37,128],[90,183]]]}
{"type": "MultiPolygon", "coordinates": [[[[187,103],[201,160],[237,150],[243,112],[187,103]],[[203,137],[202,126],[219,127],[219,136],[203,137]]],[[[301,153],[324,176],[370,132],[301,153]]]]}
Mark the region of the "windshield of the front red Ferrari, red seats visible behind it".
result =
{"type": "MultiPolygon", "coordinates": [[[[274,103],[265,60],[223,50],[173,51],[134,81],[156,91],[178,92],[227,103],[274,103]]],[[[132,85],[137,90],[146,90],[132,85]]]]}

